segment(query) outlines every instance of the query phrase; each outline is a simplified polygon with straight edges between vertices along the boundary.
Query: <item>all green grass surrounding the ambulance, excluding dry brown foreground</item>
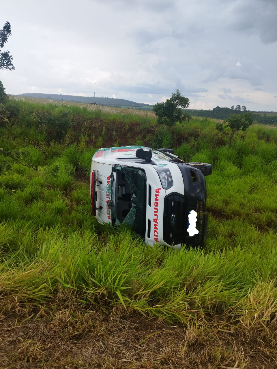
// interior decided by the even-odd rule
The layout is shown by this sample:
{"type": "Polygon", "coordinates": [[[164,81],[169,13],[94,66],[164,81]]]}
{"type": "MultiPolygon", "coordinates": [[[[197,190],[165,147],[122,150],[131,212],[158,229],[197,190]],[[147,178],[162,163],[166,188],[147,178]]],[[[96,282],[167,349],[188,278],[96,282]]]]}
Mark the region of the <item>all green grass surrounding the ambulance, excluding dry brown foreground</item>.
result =
{"type": "Polygon", "coordinates": [[[9,104],[14,115],[0,128],[0,147],[16,145],[26,155],[21,163],[8,158],[11,168],[0,176],[0,299],[39,305],[64,290],[82,304],[121,304],[186,324],[216,316],[267,324],[277,313],[276,130],[250,127],[228,149],[208,120],[171,131],[154,124],[150,131],[148,117],[9,104]],[[53,123],[50,116],[73,123],[61,142],[40,127],[42,118],[53,123]],[[107,132],[111,123],[115,134],[107,132]],[[97,139],[103,146],[118,139],[117,123],[128,140],[173,146],[185,161],[212,163],[205,248],[151,248],[130,230],[91,216],[91,158],[97,139]],[[132,124],[144,129],[133,132],[132,124]]]}

